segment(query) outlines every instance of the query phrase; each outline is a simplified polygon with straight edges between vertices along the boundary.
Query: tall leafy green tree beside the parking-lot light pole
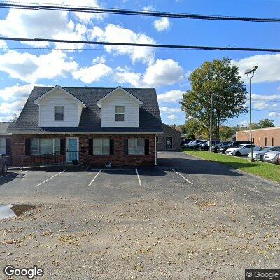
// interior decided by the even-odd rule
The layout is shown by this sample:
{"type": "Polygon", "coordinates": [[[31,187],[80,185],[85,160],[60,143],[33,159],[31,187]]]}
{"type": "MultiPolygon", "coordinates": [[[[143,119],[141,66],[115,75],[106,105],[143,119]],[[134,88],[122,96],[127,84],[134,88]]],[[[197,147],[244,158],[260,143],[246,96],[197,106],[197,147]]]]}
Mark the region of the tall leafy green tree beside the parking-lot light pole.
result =
{"type": "Polygon", "coordinates": [[[204,62],[190,74],[189,80],[191,90],[183,94],[180,102],[182,110],[204,124],[209,137],[210,100],[213,94],[213,126],[219,139],[220,123],[247,111],[244,106],[247,90],[238,67],[227,58],[204,62]]]}

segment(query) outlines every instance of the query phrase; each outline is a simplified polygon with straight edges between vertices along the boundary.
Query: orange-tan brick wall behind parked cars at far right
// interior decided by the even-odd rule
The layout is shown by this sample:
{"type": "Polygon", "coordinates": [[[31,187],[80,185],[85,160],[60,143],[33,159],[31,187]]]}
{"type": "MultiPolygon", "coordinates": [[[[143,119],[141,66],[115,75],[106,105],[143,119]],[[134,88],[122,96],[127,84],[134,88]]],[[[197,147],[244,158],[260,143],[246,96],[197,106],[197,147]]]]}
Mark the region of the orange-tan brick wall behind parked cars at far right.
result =
{"type": "MultiPolygon", "coordinates": [[[[269,127],[260,130],[252,130],[254,144],[258,146],[280,146],[280,127],[269,127]],[[273,141],[273,144],[272,144],[273,141]]],[[[237,141],[250,139],[250,131],[236,132],[237,141]]]]}

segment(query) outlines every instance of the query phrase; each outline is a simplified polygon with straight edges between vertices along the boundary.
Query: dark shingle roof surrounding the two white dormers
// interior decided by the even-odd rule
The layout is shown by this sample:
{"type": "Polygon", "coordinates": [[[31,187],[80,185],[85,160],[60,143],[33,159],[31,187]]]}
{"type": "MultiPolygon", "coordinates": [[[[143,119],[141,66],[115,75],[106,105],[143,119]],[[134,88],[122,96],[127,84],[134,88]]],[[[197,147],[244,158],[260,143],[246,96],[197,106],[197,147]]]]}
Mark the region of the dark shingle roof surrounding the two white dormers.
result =
{"type": "Polygon", "coordinates": [[[125,88],[134,97],[143,102],[139,108],[139,127],[101,127],[100,109],[96,102],[115,88],[104,87],[63,87],[83,102],[86,108],[80,116],[78,127],[39,127],[39,106],[34,100],[52,89],[52,87],[34,87],[16,123],[10,125],[10,132],[162,132],[158,98],[153,88],[125,88]]]}

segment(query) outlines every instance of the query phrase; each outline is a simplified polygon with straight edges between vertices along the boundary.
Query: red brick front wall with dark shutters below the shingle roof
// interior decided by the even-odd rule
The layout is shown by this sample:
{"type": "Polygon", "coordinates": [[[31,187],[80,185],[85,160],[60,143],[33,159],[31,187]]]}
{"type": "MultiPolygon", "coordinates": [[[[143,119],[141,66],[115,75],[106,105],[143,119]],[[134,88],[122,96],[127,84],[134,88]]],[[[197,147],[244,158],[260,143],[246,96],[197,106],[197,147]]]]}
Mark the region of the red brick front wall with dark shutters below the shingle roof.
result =
{"type": "MultiPolygon", "coordinates": [[[[16,159],[19,156],[25,156],[25,139],[26,138],[79,138],[79,160],[87,165],[104,165],[105,162],[112,162],[115,166],[137,166],[137,165],[154,165],[155,164],[155,135],[36,135],[36,134],[13,134],[11,137],[12,155],[16,159]],[[114,139],[114,155],[89,155],[89,138],[113,138],[114,139]],[[149,139],[149,155],[125,155],[124,139],[129,138],[145,138],[149,139]]],[[[65,156],[59,156],[58,160],[63,161],[65,156]]],[[[26,165],[35,160],[37,163],[40,157],[36,155],[25,156],[26,165]]],[[[48,156],[48,160],[51,158],[48,156]]],[[[43,159],[41,159],[43,160],[43,159]]],[[[50,162],[54,161],[50,159],[50,162]]],[[[18,162],[16,162],[18,163],[18,162]]],[[[13,162],[13,165],[15,163],[13,162]]]]}

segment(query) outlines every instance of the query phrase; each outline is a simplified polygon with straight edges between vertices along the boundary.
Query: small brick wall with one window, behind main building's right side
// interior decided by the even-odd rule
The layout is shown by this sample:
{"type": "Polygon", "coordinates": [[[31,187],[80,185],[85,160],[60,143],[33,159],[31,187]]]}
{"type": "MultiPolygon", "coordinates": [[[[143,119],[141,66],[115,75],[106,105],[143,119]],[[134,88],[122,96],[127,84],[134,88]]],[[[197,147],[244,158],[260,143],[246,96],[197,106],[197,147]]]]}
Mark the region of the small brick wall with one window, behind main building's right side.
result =
{"type": "Polygon", "coordinates": [[[181,149],[181,132],[162,123],[163,134],[158,137],[158,151],[179,151],[181,149]],[[172,148],[166,147],[166,137],[172,137],[172,148]]]}

